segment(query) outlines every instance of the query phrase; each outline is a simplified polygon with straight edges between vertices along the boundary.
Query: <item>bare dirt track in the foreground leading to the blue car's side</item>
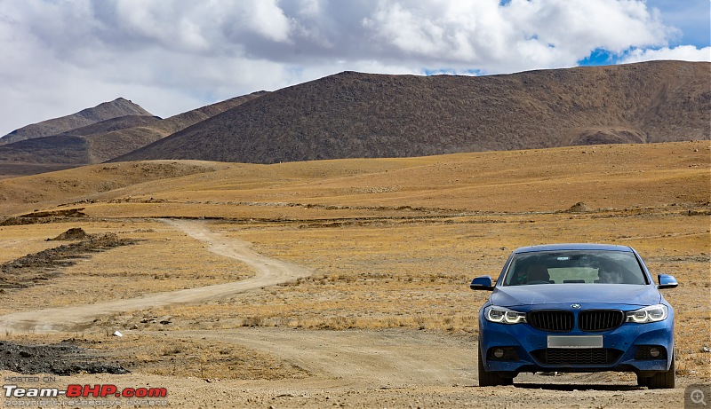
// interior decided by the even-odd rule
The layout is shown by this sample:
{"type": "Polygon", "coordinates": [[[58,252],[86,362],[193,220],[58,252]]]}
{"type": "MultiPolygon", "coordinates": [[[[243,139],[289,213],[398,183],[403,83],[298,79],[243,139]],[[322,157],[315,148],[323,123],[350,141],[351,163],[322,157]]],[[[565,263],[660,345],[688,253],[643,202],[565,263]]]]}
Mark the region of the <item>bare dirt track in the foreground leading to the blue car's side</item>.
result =
{"type": "Polygon", "coordinates": [[[306,369],[314,379],[342,387],[404,388],[475,382],[470,340],[421,331],[242,328],[179,331],[170,335],[232,342],[274,354],[306,369]],[[438,350],[436,354],[431,353],[433,347],[438,350]]]}

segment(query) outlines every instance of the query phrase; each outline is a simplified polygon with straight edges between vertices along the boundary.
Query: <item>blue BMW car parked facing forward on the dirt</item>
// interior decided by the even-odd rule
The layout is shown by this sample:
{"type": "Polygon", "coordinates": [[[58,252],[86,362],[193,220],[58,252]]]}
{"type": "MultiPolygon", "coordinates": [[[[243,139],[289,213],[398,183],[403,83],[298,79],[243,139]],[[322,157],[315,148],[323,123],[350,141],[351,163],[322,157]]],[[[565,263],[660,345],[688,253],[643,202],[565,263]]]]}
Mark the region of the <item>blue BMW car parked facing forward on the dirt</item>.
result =
{"type": "Polygon", "coordinates": [[[479,385],[522,372],[634,372],[650,389],[675,387],[674,310],[633,248],[556,244],[516,249],[479,311],[479,385]]]}

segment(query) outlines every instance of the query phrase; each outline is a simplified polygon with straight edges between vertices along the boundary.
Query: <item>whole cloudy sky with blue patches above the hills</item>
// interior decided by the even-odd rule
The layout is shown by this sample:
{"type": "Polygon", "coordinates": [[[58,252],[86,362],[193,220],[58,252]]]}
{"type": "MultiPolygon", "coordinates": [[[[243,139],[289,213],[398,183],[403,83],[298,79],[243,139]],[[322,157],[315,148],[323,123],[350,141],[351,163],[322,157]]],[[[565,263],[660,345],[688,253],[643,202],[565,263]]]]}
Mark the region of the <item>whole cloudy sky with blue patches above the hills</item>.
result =
{"type": "Polygon", "coordinates": [[[118,97],[173,114],[351,70],[711,61],[709,0],[0,0],[0,136],[118,97]]]}

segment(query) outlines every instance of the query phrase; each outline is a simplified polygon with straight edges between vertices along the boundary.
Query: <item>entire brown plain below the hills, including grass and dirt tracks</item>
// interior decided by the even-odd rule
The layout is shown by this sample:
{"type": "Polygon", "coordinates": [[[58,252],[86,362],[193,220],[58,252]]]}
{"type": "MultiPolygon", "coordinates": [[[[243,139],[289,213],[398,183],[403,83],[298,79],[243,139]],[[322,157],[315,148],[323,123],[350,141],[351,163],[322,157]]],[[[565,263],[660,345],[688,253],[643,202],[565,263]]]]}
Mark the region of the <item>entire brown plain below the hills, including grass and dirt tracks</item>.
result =
{"type": "Polygon", "coordinates": [[[710,164],[696,141],[5,178],[0,375],[53,357],[86,364],[58,387],[164,387],[180,407],[680,407],[711,381],[710,164]],[[468,282],[550,242],[630,245],[675,275],[676,389],[475,386],[486,294],[468,282]]]}

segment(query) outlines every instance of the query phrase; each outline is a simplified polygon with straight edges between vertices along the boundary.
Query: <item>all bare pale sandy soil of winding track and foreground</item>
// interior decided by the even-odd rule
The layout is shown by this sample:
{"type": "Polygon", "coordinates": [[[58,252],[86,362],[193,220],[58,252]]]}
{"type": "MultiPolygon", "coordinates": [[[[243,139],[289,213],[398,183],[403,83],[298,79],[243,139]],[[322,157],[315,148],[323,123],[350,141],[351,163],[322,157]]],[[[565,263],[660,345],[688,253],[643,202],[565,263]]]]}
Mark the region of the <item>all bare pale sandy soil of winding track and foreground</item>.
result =
{"type": "MultiPolygon", "coordinates": [[[[199,221],[171,221],[174,228],[203,240],[212,252],[251,264],[252,279],[225,285],[147,295],[112,303],[27,311],[0,317],[2,328],[54,331],[84,326],[116,311],[147,309],[170,303],[199,302],[306,277],[308,269],[260,256],[241,240],[212,232],[199,221]],[[60,320],[62,324],[52,324],[60,320]]],[[[636,387],[629,374],[522,374],[515,385],[479,388],[475,374],[473,335],[448,335],[418,330],[314,331],[285,328],[239,328],[210,331],[129,331],[126,335],[199,339],[233,343],[276,355],[308,373],[298,379],[220,380],[153,374],[77,374],[57,377],[52,384],[116,384],[119,388],[166,388],[164,399],[180,407],[682,407],[684,382],[676,389],[636,387]]],[[[21,376],[0,372],[5,384],[21,376]]],[[[44,380],[44,376],[41,377],[44,380]]],[[[44,385],[41,386],[48,386],[44,385]]],[[[28,385],[25,385],[28,386],[28,385]]],[[[40,385],[30,385],[40,386],[40,385]]],[[[106,404],[113,397],[103,398],[106,404]]],[[[91,400],[87,398],[87,400],[91,400]]],[[[4,405],[22,401],[5,398],[4,405]]],[[[84,404],[82,404],[84,405],[84,404]]],[[[125,405],[125,403],[124,403],[125,405]]],[[[79,407],[78,405],[76,407],[79,407]]]]}

